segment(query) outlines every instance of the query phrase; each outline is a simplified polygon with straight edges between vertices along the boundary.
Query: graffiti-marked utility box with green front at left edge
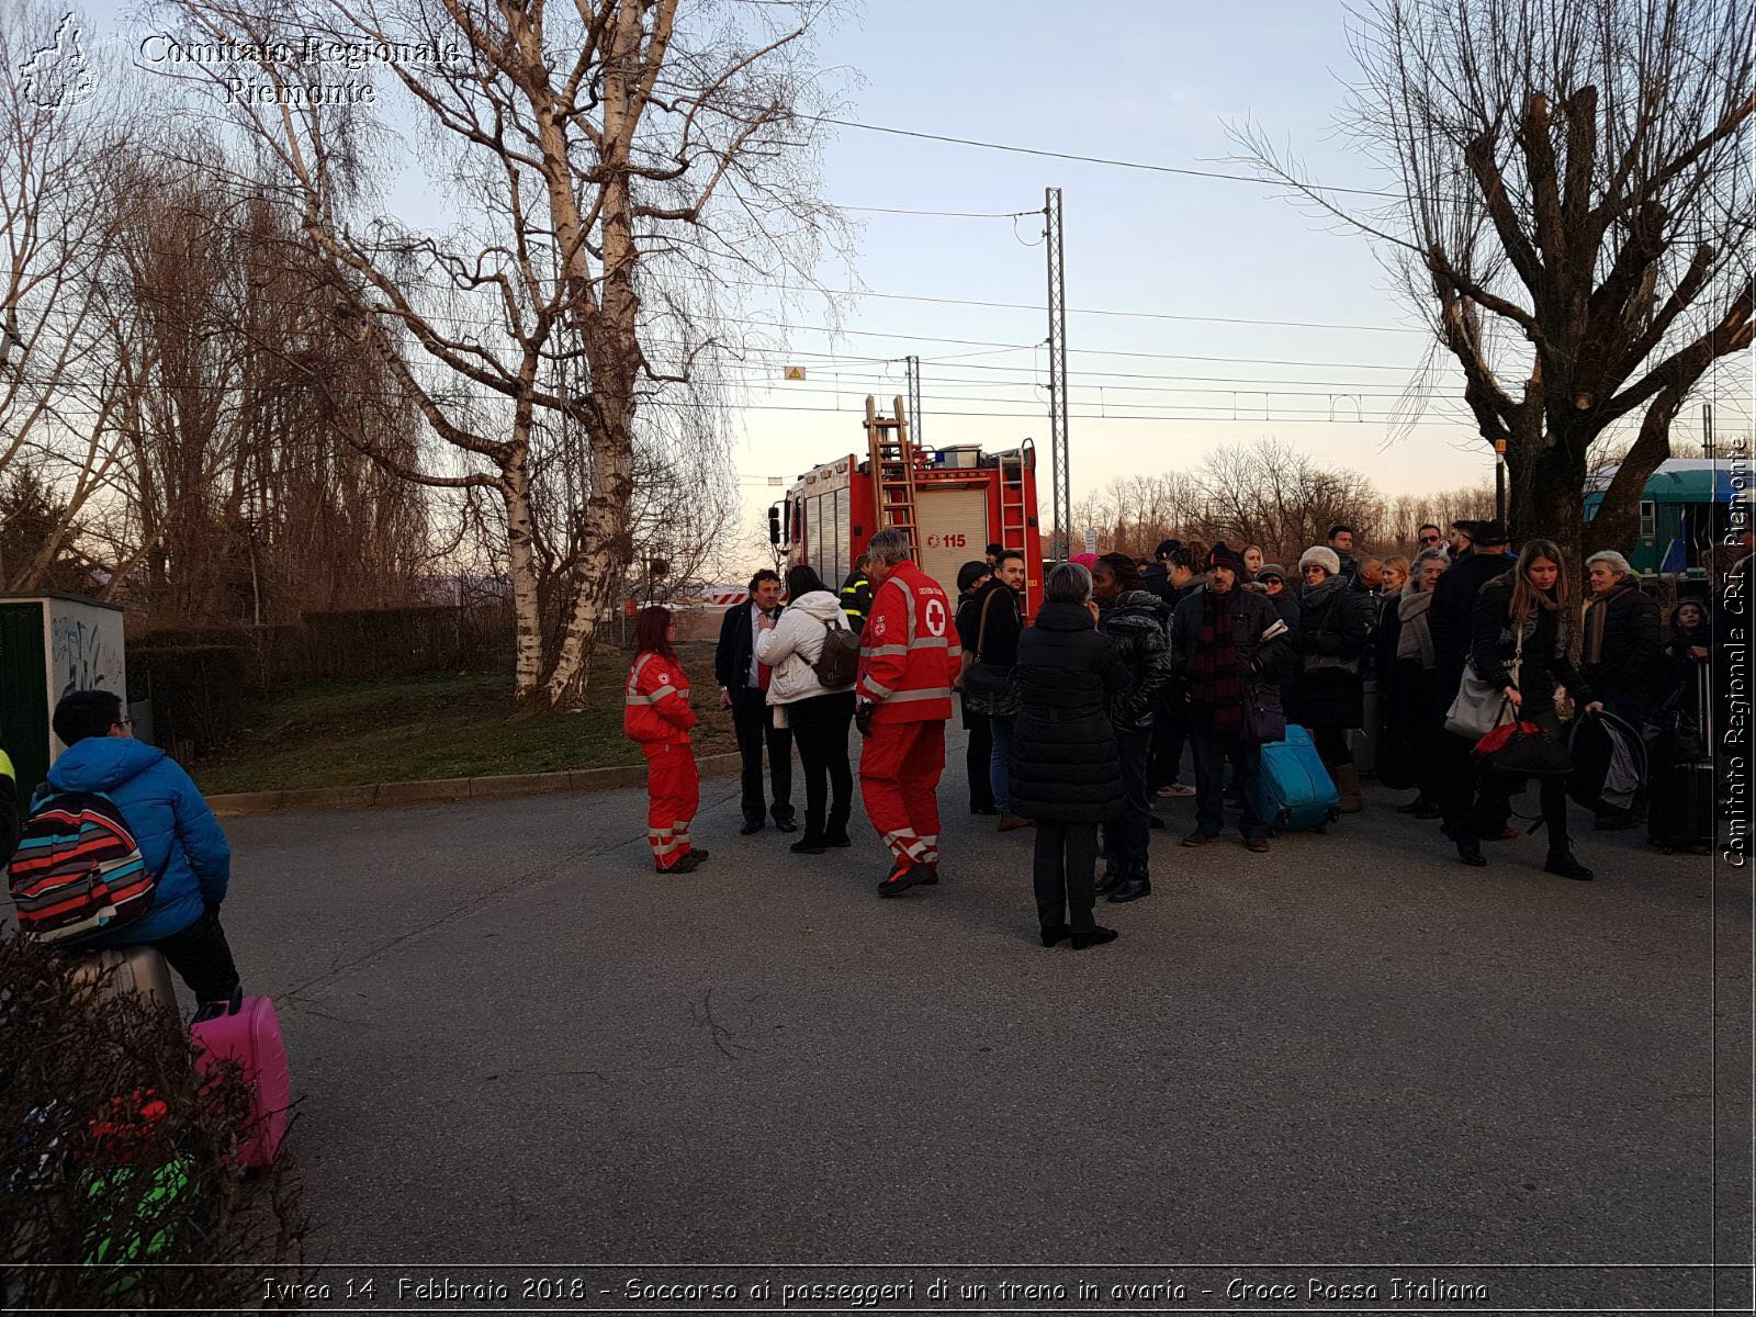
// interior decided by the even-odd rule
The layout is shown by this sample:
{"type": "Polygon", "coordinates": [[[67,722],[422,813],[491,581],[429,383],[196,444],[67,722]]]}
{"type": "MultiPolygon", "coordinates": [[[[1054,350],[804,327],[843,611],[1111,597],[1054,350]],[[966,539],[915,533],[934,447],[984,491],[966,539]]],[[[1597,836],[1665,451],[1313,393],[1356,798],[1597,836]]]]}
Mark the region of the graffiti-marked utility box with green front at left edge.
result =
{"type": "Polygon", "coordinates": [[[126,709],[121,608],[77,595],[0,595],[0,734],[21,801],[67,748],[49,718],[74,690],[114,690],[126,709]]]}

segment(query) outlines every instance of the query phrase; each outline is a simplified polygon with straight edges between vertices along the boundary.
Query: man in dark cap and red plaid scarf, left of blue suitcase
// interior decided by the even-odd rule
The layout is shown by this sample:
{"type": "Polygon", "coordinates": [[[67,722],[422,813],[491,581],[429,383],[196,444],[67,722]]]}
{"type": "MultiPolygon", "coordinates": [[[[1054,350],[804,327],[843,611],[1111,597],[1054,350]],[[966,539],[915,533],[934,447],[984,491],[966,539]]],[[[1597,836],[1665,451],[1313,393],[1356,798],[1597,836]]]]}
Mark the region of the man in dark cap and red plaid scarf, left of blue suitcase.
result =
{"type": "Polygon", "coordinates": [[[1238,588],[1243,558],[1224,543],[1206,558],[1206,588],[1171,615],[1171,662],[1189,681],[1189,725],[1196,752],[1196,831],[1185,846],[1217,841],[1226,829],[1226,762],[1243,792],[1240,831],[1252,852],[1268,850],[1268,824],[1256,815],[1252,785],[1261,748],[1245,729],[1243,706],[1261,685],[1275,685],[1287,651],[1287,623],[1268,595],[1238,588]]]}

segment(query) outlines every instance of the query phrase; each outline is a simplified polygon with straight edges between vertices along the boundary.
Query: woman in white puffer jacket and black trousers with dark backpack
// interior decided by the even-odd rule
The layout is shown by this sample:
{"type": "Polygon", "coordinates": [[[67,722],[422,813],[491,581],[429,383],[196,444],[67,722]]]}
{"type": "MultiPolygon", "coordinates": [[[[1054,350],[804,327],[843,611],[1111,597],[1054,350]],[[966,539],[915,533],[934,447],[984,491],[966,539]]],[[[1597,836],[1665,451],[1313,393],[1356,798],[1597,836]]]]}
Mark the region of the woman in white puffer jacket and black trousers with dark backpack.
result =
{"type": "Polygon", "coordinates": [[[829,846],[853,845],[848,839],[853,685],[829,688],[811,664],[822,655],[829,630],[846,630],[848,618],[811,567],[787,572],[787,599],[780,622],[757,637],[757,660],[773,669],[767,702],[774,706],[774,723],[792,729],[804,766],[804,836],[792,850],[822,855],[829,846]]]}

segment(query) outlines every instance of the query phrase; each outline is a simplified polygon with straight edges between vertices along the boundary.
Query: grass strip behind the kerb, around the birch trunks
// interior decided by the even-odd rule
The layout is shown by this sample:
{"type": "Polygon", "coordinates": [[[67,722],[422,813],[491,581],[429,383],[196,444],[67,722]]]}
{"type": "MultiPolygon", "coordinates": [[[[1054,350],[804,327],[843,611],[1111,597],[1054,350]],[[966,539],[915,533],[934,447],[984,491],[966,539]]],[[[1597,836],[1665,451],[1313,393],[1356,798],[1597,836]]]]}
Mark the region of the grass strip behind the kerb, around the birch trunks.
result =
{"type": "MultiPolygon", "coordinates": [[[[695,753],[736,750],[713,646],[680,644],[678,655],[701,716],[695,753]]],[[[639,764],[639,746],[622,732],[627,666],[625,651],[601,650],[585,713],[518,722],[509,673],[291,687],[251,704],[237,739],[188,767],[205,794],[223,795],[639,764]]]]}

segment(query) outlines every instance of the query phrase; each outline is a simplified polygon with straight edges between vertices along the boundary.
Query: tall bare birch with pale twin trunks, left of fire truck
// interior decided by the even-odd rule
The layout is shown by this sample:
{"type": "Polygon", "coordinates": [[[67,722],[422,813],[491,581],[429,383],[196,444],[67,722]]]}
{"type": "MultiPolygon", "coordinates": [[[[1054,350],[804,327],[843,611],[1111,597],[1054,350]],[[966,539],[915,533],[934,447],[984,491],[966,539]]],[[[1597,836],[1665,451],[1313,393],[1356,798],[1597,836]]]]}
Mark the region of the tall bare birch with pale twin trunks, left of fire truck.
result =
{"type": "Polygon", "coordinates": [[[799,269],[827,223],[810,169],[822,130],[799,112],[817,95],[804,37],[822,4],[170,7],[191,40],[262,47],[267,97],[234,100],[239,123],[299,198],[337,314],[444,446],[439,464],[385,460],[413,481],[499,497],[520,706],[578,706],[634,557],[639,416],[674,406],[709,420],[701,390],[729,337],[716,276],[729,263],[799,269]],[[365,207],[367,107],[328,102],[323,65],[277,61],[274,44],[297,28],[428,51],[378,70],[414,107],[455,225],[365,207]],[[558,363],[583,388],[557,392],[558,363]],[[543,625],[532,486],[543,416],[579,427],[590,453],[555,636],[543,625]]]}

